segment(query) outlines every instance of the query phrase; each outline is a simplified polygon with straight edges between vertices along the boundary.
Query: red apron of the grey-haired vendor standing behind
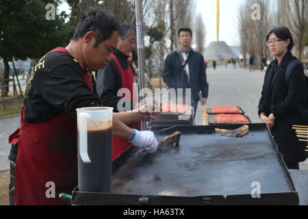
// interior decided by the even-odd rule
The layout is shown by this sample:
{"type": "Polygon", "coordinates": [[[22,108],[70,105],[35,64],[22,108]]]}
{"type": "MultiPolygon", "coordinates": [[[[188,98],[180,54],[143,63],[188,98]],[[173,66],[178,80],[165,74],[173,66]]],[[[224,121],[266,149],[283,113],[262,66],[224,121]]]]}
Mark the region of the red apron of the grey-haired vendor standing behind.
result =
{"type": "MultiPolygon", "coordinates": [[[[136,96],[133,96],[136,92],[134,92],[133,88],[133,70],[131,69],[131,66],[128,64],[127,69],[123,69],[118,58],[112,54],[112,59],[116,62],[116,66],[118,66],[118,69],[121,73],[121,79],[122,79],[122,88],[127,88],[131,92],[131,96],[125,96],[124,98],[129,99],[129,101],[136,100],[136,96]]],[[[127,60],[127,62],[129,62],[127,60]]],[[[128,125],[131,127],[131,129],[141,129],[141,123],[131,123],[128,125]]],[[[131,146],[131,143],[127,142],[127,140],[123,138],[112,138],[112,160],[116,159],[118,156],[120,156],[121,153],[123,153],[126,149],[131,146]]]]}

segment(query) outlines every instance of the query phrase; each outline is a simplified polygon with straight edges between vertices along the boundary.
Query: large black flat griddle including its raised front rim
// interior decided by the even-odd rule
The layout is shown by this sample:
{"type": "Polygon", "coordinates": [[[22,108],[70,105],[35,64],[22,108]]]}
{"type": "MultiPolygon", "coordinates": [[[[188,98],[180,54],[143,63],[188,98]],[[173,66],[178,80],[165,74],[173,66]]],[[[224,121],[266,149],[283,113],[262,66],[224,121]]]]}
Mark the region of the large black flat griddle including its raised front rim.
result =
{"type": "Polygon", "coordinates": [[[214,133],[238,127],[152,127],[157,139],[181,131],[180,147],[154,154],[130,149],[129,159],[114,169],[110,194],[75,191],[73,204],[298,205],[290,173],[264,124],[249,125],[243,138],[214,133]],[[253,182],[260,183],[261,198],[251,197],[253,182]]]}

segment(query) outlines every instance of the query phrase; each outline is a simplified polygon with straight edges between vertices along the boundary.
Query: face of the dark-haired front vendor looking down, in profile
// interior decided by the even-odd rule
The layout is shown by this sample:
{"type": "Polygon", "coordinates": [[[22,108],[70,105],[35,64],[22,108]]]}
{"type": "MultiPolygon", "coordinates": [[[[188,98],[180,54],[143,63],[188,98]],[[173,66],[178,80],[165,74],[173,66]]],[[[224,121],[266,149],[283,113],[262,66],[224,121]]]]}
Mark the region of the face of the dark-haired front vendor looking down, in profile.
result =
{"type": "Polygon", "coordinates": [[[84,64],[88,70],[98,71],[105,68],[107,62],[111,61],[112,52],[116,49],[118,44],[118,31],[114,31],[111,38],[101,42],[97,47],[94,47],[96,34],[93,31],[89,36],[88,34],[85,36],[85,43],[82,51],[84,64]]]}

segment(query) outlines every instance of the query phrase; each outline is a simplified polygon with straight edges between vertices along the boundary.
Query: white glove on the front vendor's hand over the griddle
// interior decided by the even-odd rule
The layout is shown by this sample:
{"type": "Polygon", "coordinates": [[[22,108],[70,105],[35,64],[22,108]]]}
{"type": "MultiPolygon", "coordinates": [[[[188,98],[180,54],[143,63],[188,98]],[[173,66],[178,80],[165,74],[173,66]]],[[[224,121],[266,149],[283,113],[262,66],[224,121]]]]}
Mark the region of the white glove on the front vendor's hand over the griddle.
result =
{"type": "Polygon", "coordinates": [[[133,131],[133,138],[129,142],[145,151],[155,152],[157,150],[158,142],[152,131],[138,131],[136,129],[133,131]]]}

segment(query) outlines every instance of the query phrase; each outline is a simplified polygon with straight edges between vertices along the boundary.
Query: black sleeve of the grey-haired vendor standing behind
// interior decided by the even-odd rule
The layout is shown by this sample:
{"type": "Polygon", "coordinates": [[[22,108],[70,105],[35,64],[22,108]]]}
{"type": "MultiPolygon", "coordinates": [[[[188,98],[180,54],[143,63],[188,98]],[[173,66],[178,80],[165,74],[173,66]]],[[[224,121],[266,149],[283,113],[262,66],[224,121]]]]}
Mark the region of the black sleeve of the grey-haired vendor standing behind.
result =
{"type": "MultiPolygon", "coordinates": [[[[118,90],[122,87],[120,70],[114,61],[111,61],[103,70],[97,73],[97,94],[105,107],[113,107],[118,112],[118,102],[122,99],[118,96],[118,90]]],[[[133,109],[131,101],[131,110],[133,109]]],[[[125,103],[123,105],[125,107],[125,103]]]]}

